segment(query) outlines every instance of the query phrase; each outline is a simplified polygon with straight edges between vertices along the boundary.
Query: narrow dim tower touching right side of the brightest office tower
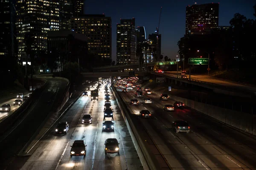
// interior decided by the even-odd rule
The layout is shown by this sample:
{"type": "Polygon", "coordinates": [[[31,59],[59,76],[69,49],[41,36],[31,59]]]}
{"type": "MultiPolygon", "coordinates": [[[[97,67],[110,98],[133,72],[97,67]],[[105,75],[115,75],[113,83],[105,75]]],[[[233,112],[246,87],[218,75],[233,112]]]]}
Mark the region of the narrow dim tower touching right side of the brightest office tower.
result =
{"type": "Polygon", "coordinates": [[[60,0],[59,30],[71,30],[71,27],[70,27],[71,17],[73,17],[72,0],[60,0]]]}

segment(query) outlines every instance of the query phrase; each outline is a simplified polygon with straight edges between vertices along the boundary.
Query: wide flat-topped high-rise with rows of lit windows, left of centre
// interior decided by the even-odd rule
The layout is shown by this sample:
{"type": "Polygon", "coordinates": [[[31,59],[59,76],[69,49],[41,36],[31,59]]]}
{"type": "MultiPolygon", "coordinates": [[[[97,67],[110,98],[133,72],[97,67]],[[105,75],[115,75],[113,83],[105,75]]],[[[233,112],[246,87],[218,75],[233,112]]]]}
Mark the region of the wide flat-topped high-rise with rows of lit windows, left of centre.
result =
{"type": "Polygon", "coordinates": [[[88,52],[112,58],[111,17],[104,14],[74,16],[71,17],[71,30],[86,35],[88,52]]]}

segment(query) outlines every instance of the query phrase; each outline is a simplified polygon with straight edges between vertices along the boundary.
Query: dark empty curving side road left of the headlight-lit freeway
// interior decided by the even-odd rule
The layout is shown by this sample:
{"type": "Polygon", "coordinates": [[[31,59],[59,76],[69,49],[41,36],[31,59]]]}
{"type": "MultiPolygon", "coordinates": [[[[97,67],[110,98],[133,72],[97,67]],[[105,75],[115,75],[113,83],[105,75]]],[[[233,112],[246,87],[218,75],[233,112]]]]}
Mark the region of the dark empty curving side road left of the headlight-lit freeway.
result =
{"type": "Polygon", "coordinates": [[[47,80],[48,83],[41,96],[38,96],[34,105],[27,110],[23,119],[17,122],[16,128],[5,134],[5,136],[0,136],[1,170],[8,170],[17,153],[47,117],[47,114],[52,110],[52,106],[56,105],[59,102],[58,99],[63,96],[67,81],[56,78],[49,78],[47,80]]]}

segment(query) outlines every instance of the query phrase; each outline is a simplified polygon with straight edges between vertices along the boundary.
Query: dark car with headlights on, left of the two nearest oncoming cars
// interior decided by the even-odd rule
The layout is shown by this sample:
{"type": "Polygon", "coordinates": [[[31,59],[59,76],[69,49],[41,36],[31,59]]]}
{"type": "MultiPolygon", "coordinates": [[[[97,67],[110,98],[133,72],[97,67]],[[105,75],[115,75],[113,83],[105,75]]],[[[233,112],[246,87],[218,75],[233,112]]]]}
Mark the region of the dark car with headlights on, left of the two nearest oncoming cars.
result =
{"type": "Polygon", "coordinates": [[[73,142],[70,150],[70,157],[72,156],[84,156],[86,154],[87,144],[84,140],[76,140],[73,142]]]}

